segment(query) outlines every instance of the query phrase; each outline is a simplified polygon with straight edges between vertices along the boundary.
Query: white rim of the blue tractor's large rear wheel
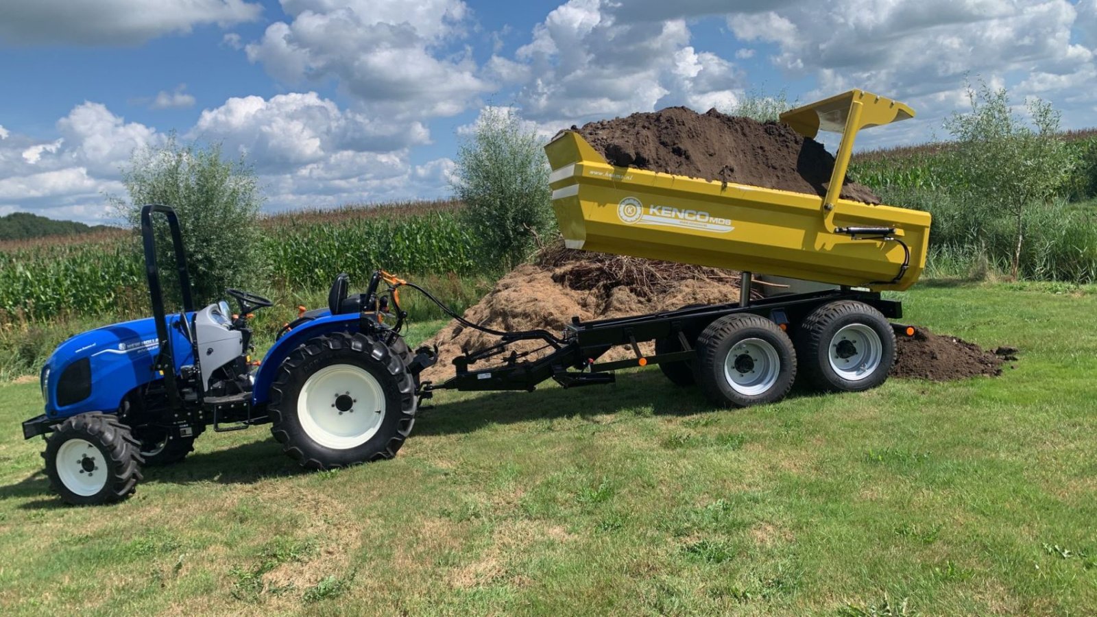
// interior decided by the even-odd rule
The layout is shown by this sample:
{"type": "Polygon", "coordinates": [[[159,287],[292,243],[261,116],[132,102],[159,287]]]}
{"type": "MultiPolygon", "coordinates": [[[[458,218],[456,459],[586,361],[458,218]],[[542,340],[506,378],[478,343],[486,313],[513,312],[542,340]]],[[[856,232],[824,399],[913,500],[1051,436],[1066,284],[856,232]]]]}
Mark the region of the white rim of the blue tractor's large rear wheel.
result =
{"type": "Polygon", "coordinates": [[[385,395],[369,371],[332,364],[313,373],[297,395],[297,418],[305,434],[326,448],[365,444],[385,419],[385,395]]]}

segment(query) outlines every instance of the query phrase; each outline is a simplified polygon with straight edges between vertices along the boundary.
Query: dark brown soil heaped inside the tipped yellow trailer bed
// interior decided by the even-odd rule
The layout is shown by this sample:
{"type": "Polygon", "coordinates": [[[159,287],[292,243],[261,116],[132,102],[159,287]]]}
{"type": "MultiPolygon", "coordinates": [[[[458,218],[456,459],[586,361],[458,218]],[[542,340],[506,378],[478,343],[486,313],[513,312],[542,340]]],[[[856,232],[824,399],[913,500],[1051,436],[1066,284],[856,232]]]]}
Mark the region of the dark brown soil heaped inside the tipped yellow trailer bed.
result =
{"type": "MultiPolygon", "coordinates": [[[[825,195],[834,156],[787,124],[667,108],[574,127],[611,165],[825,195]]],[[[841,197],[880,203],[848,178],[841,197]]]]}

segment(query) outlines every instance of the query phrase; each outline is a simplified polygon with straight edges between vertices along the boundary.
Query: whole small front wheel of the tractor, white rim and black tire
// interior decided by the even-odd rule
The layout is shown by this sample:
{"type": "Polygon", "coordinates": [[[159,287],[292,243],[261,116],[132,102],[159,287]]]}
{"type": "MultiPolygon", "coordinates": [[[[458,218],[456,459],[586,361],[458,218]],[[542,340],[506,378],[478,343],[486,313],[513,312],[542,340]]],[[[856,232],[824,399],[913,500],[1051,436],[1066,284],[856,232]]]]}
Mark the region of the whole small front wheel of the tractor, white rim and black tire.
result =
{"type": "Polygon", "coordinates": [[[63,422],[46,441],[46,474],[61,498],[73,505],[125,500],[142,479],[138,442],[111,415],[80,414],[63,422]]]}

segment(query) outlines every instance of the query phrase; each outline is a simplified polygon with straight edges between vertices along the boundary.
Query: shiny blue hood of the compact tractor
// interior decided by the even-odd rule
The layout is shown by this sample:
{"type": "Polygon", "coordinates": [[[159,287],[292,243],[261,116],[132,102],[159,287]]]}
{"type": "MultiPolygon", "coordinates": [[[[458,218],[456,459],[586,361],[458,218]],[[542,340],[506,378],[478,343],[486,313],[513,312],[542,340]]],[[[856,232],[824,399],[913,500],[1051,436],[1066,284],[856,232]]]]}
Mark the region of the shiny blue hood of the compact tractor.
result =
{"type": "MultiPolygon", "coordinates": [[[[178,367],[193,363],[193,350],[179,315],[168,316],[178,367]]],[[[160,375],[152,361],[160,346],[156,322],[134,319],[78,334],[60,344],[42,369],[42,392],[49,417],[113,412],[123,396],[160,375]]],[[[178,369],[177,367],[177,369],[178,369]]]]}

